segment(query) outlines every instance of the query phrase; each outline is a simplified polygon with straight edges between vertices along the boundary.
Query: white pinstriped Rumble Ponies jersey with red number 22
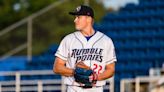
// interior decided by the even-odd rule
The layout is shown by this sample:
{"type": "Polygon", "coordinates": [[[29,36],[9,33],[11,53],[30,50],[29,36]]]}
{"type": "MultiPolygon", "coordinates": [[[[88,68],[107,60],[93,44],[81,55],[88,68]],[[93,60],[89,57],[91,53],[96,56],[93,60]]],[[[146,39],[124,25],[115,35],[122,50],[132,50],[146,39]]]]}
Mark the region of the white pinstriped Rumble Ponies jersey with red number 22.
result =
{"type": "MultiPolygon", "coordinates": [[[[88,41],[80,31],[67,35],[60,43],[55,56],[66,61],[66,67],[75,68],[78,61],[83,61],[97,74],[105,70],[105,65],[116,62],[112,40],[97,31],[88,41]]],[[[106,80],[97,81],[96,86],[105,85],[106,80]]],[[[77,85],[74,77],[64,77],[64,84],[77,85]]]]}

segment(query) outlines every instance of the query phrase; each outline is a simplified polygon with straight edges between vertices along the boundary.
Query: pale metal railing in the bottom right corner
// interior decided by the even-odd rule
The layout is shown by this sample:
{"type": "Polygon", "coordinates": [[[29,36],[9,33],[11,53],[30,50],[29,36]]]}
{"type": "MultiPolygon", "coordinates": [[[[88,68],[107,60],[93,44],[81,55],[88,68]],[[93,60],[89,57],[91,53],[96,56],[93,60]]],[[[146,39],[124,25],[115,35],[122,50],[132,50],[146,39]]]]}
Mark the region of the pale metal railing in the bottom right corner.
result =
{"type": "Polygon", "coordinates": [[[131,78],[131,79],[122,79],[120,82],[120,92],[140,92],[141,89],[141,84],[142,83],[148,83],[149,86],[151,86],[151,83],[157,82],[159,79],[164,78],[164,73],[163,68],[158,68],[158,69],[150,69],[149,70],[149,76],[137,76],[136,78],[131,78]],[[134,90],[129,90],[129,88],[126,86],[126,84],[130,86],[134,86],[134,90]]]}

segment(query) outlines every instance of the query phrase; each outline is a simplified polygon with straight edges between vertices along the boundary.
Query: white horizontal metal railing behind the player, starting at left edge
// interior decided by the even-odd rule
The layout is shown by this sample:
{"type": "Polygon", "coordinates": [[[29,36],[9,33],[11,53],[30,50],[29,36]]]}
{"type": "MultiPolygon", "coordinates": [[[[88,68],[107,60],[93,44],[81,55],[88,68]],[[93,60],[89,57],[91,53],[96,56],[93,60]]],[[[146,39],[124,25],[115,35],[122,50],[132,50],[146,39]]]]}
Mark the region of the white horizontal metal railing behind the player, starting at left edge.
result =
{"type": "MultiPolygon", "coordinates": [[[[61,91],[65,92],[66,87],[63,84],[62,79],[26,79],[22,80],[23,76],[49,76],[54,75],[52,70],[31,70],[31,71],[17,71],[17,72],[0,72],[2,77],[11,77],[14,76],[14,80],[5,80],[0,81],[0,92],[21,92],[21,91],[61,91]]],[[[57,75],[56,75],[57,76],[57,75]]],[[[104,89],[114,92],[114,78],[111,78],[109,81],[110,85],[105,85],[104,89]]]]}

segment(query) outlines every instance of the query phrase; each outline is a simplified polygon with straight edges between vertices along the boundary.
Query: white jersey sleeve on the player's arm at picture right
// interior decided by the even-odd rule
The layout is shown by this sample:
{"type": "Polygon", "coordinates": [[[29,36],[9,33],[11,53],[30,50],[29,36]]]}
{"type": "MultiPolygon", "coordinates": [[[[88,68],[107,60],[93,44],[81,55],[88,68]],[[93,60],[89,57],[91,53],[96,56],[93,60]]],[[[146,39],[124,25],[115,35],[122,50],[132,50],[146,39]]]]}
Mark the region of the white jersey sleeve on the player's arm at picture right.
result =
{"type": "Polygon", "coordinates": [[[115,47],[111,39],[108,40],[107,52],[106,52],[106,64],[111,64],[117,61],[115,47]]]}

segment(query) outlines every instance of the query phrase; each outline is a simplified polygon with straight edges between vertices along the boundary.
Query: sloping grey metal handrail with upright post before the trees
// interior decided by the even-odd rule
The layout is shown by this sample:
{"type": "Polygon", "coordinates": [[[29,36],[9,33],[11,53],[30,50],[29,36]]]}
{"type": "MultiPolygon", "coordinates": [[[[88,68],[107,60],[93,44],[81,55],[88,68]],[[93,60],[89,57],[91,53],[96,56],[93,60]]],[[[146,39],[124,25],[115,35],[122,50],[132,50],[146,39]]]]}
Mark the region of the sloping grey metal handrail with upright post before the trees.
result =
{"type": "Polygon", "coordinates": [[[31,61],[31,59],[32,59],[32,30],[33,30],[32,23],[33,23],[33,19],[37,18],[38,16],[41,16],[42,14],[48,12],[49,10],[53,9],[54,7],[61,5],[65,1],[68,1],[68,0],[56,1],[53,4],[49,5],[48,7],[32,14],[31,16],[22,19],[21,21],[5,28],[4,30],[1,30],[0,37],[13,31],[14,29],[18,28],[19,26],[27,23],[27,42],[25,42],[24,44],[21,44],[20,46],[7,52],[6,54],[0,56],[0,60],[4,60],[4,59],[10,57],[11,55],[14,55],[15,53],[20,52],[20,51],[24,50],[25,48],[27,48],[27,59],[28,59],[28,61],[31,61]]]}

